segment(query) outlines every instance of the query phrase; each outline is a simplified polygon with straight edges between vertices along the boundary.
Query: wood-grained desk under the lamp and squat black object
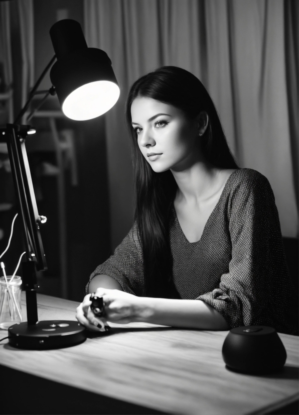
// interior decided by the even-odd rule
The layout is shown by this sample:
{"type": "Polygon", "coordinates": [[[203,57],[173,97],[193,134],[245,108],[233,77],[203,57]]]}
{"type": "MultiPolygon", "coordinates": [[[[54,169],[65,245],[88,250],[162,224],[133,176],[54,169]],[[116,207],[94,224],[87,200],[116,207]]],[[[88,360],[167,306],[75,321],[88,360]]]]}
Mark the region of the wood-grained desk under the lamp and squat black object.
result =
{"type": "MultiPolygon", "coordinates": [[[[77,302],[40,294],[38,304],[40,320],[76,320],[77,302]]],[[[22,309],[25,320],[24,297],[22,309]]],[[[143,323],[111,326],[108,335],[91,336],[81,345],[59,350],[25,351],[2,342],[0,413],[232,415],[269,413],[297,399],[295,336],[280,335],[287,351],[281,373],[253,376],[226,369],[221,349],[228,332],[143,323]],[[40,390],[30,395],[32,387],[40,390]],[[30,404],[37,406],[29,408],[30,404]]],[[[1,338],[6,335],[7,331],[0,331],[1,338]]]]}

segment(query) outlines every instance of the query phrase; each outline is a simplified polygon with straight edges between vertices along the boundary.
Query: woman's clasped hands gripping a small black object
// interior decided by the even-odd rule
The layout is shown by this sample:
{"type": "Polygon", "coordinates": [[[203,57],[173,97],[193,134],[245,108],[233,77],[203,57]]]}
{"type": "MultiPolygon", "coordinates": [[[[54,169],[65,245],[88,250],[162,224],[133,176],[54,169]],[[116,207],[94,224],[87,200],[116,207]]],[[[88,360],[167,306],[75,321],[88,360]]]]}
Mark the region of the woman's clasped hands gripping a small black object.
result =
{"type": "Polygon", "coordinates": [[[89,330],[105,331],[107,321],[127,324],[137,321],[138,299],[135,295],[117,289],[97,288],[95,295],[103,297],[104,317],[95,317],[90,309],[90,295],[85,295],[83,302],[77,307],[76,319],[89,330]]]}

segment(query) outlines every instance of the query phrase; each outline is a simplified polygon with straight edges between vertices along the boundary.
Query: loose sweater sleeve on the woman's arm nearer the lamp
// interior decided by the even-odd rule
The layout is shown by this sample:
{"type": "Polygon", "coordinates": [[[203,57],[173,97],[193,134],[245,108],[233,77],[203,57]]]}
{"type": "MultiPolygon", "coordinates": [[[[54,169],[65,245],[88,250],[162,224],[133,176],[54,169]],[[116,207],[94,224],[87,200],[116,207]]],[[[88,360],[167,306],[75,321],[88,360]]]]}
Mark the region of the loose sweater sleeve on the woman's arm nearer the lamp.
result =
{"type": "MultiPolygon", "coordinates": [[[[134,224],[129,233],[118,245],[103,264],[99,265],[89,277],[89,282],[95,275],[106,274],[119,282],[125,292],[142,295],[144,284],[143,255],[139,242],[137,225],[134,224]]],[[[85,287],[88,293],[89,282],[85,287]]]]}

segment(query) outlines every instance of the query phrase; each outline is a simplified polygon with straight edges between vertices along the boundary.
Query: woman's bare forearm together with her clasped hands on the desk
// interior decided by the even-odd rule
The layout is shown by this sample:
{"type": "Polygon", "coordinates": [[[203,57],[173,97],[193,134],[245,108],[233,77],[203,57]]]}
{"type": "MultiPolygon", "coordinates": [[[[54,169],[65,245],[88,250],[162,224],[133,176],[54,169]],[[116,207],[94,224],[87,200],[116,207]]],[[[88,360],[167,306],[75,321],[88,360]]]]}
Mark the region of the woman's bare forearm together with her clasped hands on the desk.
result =
{"type": "Polygon", "coordinates": [[[97,288],[103,297],[105,319],[96,318],[90,310],[90,294],[77,308],[76,318],[90,330],[98,323],[127,324],[145,322],[172,327],[202,330],[229,330],[224,318],[211,305],[201,300],[137,297],[118,289],[97,288]]]}

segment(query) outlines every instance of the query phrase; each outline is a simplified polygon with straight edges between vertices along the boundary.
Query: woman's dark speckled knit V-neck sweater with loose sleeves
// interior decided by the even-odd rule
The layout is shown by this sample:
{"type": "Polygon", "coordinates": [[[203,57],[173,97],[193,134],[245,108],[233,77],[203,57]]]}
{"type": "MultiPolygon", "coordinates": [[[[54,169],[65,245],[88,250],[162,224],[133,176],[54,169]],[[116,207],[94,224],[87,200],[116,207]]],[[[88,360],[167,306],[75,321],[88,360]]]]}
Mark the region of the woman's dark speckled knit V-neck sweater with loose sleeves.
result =
{"type": "MultiPolygon", "coordinates": [[[[230,327],[266,325],[280,333],[298,333],[295,288],[265,176],[252,169],[235,170],[197,242],[185,237],[172,204],[169,233],[179,298],[205,301],[230,327]]],[[[135,224],[90,280],[98,274],[109,275],[124,291],[141,295],[142,247],[135,224]]]]}

